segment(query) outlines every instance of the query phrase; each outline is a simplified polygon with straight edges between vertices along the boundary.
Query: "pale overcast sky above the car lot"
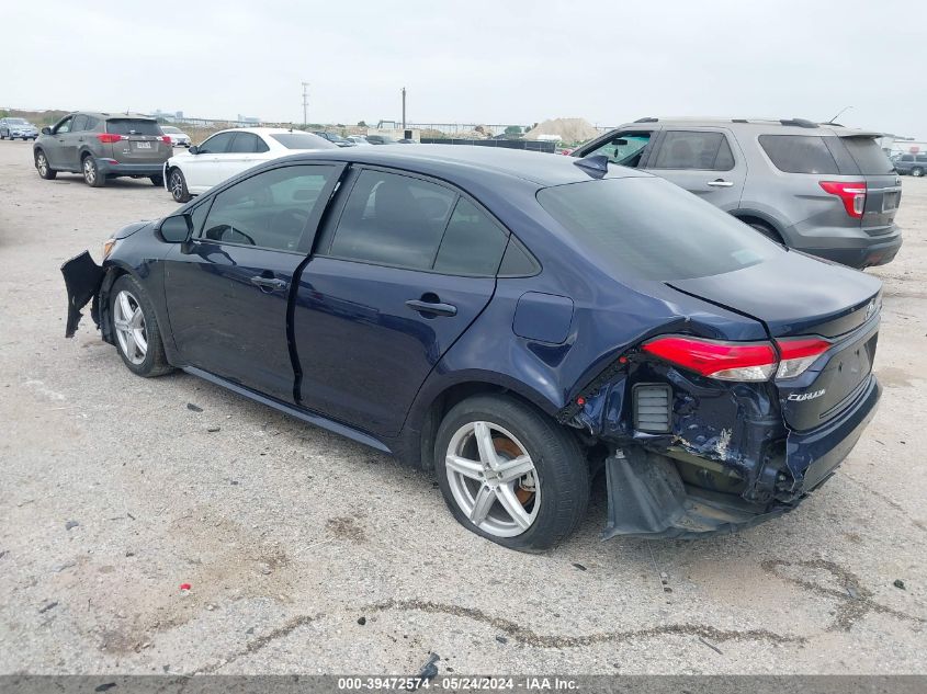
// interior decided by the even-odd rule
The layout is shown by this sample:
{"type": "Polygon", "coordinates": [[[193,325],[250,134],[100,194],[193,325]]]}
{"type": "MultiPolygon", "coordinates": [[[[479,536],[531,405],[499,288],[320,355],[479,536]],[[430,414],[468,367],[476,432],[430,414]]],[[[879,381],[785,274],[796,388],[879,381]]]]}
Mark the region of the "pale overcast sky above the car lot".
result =
{"type": "Polygon", "coordinates": [[[530,124],[799,116],[927,138],[927,0],[4,3],[0,106],[530,124]],[[14,69],[10,69],[13,67],[14,69]]]}

